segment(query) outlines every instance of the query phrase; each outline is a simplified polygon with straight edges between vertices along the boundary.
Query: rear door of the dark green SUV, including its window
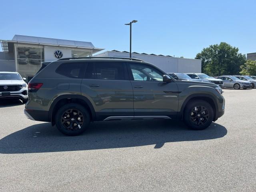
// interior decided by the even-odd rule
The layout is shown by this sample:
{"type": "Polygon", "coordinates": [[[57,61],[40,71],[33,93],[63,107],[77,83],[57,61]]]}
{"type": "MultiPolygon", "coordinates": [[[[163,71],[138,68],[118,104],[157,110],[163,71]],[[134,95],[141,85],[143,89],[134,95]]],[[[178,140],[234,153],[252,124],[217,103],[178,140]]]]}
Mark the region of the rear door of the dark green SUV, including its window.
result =
{"type": "Polygon", "coordinates": [[[133,116],[133,90],[123,62],[88,62],[81,85],[98,120],[108,116],[133,116]]]}

